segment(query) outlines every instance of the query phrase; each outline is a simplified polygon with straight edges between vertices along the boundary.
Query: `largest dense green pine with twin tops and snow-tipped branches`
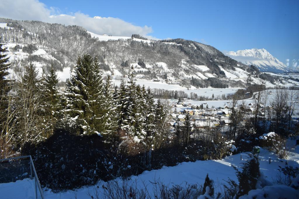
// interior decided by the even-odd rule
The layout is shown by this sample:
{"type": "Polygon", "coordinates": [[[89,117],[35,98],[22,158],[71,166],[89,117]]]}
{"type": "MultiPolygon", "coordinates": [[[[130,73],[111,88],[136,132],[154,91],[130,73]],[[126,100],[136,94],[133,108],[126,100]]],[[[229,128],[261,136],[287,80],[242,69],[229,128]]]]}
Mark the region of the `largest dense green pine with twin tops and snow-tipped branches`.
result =
{"type": "Polygon", "coordinates": [[[77,134],[101,133],[106,129],[103,106],[103,78],[98,59],[91,55],[78,57],[65,92],[67,117],[77,134]]]}

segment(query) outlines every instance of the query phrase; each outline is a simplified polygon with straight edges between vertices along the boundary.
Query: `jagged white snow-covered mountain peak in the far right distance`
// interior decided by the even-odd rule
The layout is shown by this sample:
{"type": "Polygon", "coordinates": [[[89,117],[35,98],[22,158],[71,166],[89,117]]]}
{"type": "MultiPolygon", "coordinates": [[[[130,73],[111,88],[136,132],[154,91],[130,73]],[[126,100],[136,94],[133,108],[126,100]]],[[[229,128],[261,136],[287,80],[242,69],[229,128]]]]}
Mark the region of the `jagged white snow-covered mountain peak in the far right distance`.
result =
{"type": "Polygon", "coordinates": [[[261,72],[279,73],[292,71],[264,48],[238,50],[237,52],[230,51],[227,55],[237,61],[241,61],[243,64],[254,65],[261,72]]]}

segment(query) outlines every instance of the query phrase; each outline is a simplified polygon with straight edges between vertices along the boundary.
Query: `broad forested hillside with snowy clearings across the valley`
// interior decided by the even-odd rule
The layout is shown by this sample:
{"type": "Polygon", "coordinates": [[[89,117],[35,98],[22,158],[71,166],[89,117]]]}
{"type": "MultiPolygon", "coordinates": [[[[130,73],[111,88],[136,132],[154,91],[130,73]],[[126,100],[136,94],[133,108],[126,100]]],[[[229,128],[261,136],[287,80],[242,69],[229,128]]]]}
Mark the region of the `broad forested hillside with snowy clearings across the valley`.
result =
{"type": "MultiPolygon", "coordinates": [[[[62,81],[69,77],[78,55],[90,54],[99,58],[103,73],[115,80],[126,78],[133,65],[138,79],[184,87],[245,87],[252,82],[268,82],[256,67],[196,41],[97,35],[79,26],[4,18],[0,18],[0,36],[15,69],[29,61],[45,70],[54,65],[62,81]]],[[[276,83],[279,80],[270,85],[276,83]]]]}

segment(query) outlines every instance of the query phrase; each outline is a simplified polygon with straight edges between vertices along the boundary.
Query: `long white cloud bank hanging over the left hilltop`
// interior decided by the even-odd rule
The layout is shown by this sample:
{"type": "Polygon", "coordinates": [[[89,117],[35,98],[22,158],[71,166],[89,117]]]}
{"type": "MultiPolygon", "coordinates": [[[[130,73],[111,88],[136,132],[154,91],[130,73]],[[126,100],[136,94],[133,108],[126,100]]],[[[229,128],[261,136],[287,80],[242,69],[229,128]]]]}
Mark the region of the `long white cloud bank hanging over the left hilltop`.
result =
{"type": "Polygon", "coordinates": [[[0,4],[0,17],[17,20],[37,20],[48,23],[65,25],[79,25],[96,34],[109,34],[113,36],[131,36],[140,34],[148,36],[152,28],[148,26],[135,26],[129,22],[113,17],[90,17],[84,13],[72,15],[58,14],[56,8],[47,8],[38,0],[2,0],[0,4]]]}

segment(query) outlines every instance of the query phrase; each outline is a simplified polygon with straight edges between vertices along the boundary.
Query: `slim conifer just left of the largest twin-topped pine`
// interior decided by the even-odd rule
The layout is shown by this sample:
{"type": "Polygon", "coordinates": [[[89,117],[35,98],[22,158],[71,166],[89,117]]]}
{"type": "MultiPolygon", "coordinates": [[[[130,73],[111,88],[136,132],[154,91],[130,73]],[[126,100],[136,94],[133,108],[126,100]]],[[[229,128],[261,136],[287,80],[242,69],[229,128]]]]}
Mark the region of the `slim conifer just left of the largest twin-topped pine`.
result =
{"type": "Polygon", "coordinates": [[[58,87],[59,79],[56,70],[51,66],[47,74],[42,75],[42,100],[43,100],[43,122],[46,127],[46,135],[53,134],[57,122],[61,117],[61,95],[58,87]]]}

